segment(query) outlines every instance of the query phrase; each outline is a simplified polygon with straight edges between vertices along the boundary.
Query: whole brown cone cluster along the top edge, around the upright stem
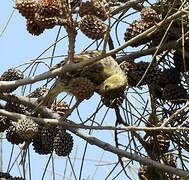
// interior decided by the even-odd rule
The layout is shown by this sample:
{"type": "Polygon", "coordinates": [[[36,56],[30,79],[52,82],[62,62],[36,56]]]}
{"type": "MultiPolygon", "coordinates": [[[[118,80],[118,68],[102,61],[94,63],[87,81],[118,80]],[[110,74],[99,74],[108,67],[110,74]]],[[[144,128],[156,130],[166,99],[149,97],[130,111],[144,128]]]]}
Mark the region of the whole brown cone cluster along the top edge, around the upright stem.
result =
{"type": "Polygon", "coordinates": [[[78,13],[81,20],[75,24],[80,30],[91,39],[101,39],[107,30],[104,21],[108,18],[111,6],[118,5],[117,1],[86,1],[78,0],[17,0],[16,9],[27,19],[27,30],[33,35],[40,35],[45,29],[52,29],[59,24],[58,19],[68,18],[68,8],[71,13],[78,13]],[[78,10],[76,10],[78,8],[78,10]]]}

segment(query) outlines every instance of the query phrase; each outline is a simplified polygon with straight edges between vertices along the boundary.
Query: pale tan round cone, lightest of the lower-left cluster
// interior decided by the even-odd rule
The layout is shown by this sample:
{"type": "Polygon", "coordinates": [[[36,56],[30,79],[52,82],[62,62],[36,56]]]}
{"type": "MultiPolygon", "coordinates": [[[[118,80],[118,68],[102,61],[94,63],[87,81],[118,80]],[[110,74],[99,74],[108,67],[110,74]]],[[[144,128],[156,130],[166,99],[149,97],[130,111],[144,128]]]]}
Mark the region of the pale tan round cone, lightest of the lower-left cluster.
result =
{"type": "Polygon", "coordinates": [[[38,133],[39,125],[32,119],[19,119],[16,123],[16,133],[24,139],[24,141],[32,140],[38,133]]]}

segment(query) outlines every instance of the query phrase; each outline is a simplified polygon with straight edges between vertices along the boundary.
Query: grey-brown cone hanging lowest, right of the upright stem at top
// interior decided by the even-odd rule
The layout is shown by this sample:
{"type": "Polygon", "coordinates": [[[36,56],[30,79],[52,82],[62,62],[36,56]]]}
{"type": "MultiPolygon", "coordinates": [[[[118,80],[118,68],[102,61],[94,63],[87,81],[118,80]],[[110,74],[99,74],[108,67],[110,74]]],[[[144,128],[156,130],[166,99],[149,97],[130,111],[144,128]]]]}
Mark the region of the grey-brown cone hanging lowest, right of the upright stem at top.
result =
{"type": "Polygon", "coordinates": [[[88,38],[98,40],[104,37],[107,25],[94,15],[85,15],[80,21],[79,28],[88,38]]]}

